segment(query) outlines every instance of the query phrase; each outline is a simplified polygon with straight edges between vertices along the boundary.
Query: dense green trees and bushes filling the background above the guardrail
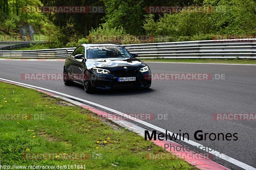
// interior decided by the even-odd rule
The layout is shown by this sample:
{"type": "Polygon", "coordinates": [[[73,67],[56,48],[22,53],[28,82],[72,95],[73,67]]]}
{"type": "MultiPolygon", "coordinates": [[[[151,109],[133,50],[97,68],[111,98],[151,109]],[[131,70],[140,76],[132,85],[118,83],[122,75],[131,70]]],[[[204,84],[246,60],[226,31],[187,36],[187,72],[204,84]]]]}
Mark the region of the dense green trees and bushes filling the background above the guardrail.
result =
{"type": "Polygon", "coordinates": [[[148,42],[237,38],[255,35],[255,21],[256,0],[0,0],[0,34],[19,35],[19,26],[32,25],[37,35],[54,42],[52,46],[106,41],[102,36],[108,36],[107,42],[123,36],[118,43],[141,43],[138,35],[154,36],[148,42]],[[106,12],[25,13],[22,7],[28,5],[105,6],[106,12]],[[191,8],[157,14],[148,13],[147,6],[191,8]],[[198,7],[210,10],[191,10],[198,7]]]}

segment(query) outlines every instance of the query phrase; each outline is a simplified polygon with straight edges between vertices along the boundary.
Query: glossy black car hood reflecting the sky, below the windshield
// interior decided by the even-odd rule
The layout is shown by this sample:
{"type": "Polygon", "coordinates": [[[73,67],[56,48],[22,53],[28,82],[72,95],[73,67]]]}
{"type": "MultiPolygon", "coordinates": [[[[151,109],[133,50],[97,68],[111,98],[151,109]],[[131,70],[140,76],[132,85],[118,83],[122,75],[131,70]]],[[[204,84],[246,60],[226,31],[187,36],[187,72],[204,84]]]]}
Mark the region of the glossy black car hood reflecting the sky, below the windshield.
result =
{"type": "Polygon", "coordinates": [[[88,59],[88,61],[96,67],[146,66],[143,61],[136,58],[88,59]]]}

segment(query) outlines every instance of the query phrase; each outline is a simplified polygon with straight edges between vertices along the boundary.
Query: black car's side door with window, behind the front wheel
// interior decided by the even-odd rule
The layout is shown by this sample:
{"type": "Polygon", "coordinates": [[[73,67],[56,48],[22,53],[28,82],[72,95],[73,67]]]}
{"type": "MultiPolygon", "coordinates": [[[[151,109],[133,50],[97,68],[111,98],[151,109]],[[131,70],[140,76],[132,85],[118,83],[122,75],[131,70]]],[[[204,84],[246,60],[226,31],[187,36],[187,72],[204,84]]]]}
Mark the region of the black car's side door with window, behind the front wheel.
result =
{"type": "Polygon", "coordinates": [[[77,50],[77,53],[74,55],[74,64],[73,64],[73,70],[75,73],[75,80],[83,82],[83,67],[84,67],[84,56],[85,56],[85,49],[84,46],[79,46],[79,49],[77,50]],[[76,58],[75,56],[78,54],[83,54],[82,58],[76,58]]]}

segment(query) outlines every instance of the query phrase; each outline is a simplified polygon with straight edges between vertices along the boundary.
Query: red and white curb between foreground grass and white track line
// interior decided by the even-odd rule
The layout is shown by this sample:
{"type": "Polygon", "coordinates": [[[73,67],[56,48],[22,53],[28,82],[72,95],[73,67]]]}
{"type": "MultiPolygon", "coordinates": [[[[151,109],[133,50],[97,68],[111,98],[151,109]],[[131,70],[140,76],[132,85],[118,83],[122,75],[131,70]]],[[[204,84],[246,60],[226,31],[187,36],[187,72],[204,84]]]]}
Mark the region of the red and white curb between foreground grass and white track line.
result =
{"type": "MultiPolygon", "coordinates": [[[[18,86],[22,86],[22,87],[26,87],[26,88],[30,88],[30,89],[35,89],[39,92],[42,92],[42,93],[46,93],[47,95],[50,95],[52,97],[56,97],[56,98],[60,98],[62,100],[65,100],[67,102],[70,102],[72,104],[75,104],[75,105],[78,105],[80,107],[83,107],[85,109],[88,109],[94,113],[96,113],[97,115],[100,115],[102,117],[105,117],[107,119],[109,119],[110,121],[112,121],[113,123],[115,124],[118,124],[130,131],[133,131],[137,134],[139,134],[140,136],[142,136],[144,138],[144,133],[145,133],[145,128],[142,128],[132,122],[129,122],[125,119],[121,119],[120,120],[120,117],[117,117],[113,114],[110,114],[108,112],[105,112],[105,111],[102,111],[102,110],[99,110],[97,108],[94,108],[94,107],[91,107],[89,105],[86,105],[84,103],[81,103],[81,102],[77,102],[75,100],[72,100],[72,99],[69,99],[69,98],[66,98],[66,97],[62,97],[62,96],[58,96],[58,95],[55,95],[55,94],[52,94],[50,92],[47,92],[47,91],[43,91],[43,90],[40,90],[40,89],[36,89],[36,88],[32,88],[32,87],[28,87],[28,86],[25,86],[25,85],[20,85],[20,84],[17,84],[17,83],[13,83],[13,82],[9,82],[9,81],[3,81],[3,80],[0,80],[1,82],[6,82],[6,83],[10,83],[10,84],[15,84],[15,85],[18,85],[18,86]],[[111,118],[109,118],[111,117],[111,118]]],[[[135,118],[134,118],[135,119],[135,118]]],[[[193,151],[191,151],[190,149],[188,149],[189,151],[187,151],[187,147],[185,146],[182,146],[174,141],[170,141],[170,140],[167,140],[167,141],[160,141],[160,140],[156,140],[156,141],[153,141],[156,145],[158,146],[161,146],[162,148],[164,148],[164,144],[168,144],[169,146],[171,145],[174,145],[175,147],[176,146],[180,146],[180,147],[183,147],[184,150],[180,150],[180,151],[177,151],[177,150],[174,150],[172,151],[171,153],[176,155],[177,157],[180,157],[181,159],[184,159],[185,161],[187,161],[188,163],[190,163],[191,165],[194,165],[196,166],[197,168],[201,169],[201,170],[229,170],[227,167],[225,166],[222,166],[216,162],[214,162],[213,160],[205,157],[204,155],[202,154],[199,154],[199,153],[195,153],[193,151]]],[[[168,160],[168,159],[166,159],[168,160]]]]}

